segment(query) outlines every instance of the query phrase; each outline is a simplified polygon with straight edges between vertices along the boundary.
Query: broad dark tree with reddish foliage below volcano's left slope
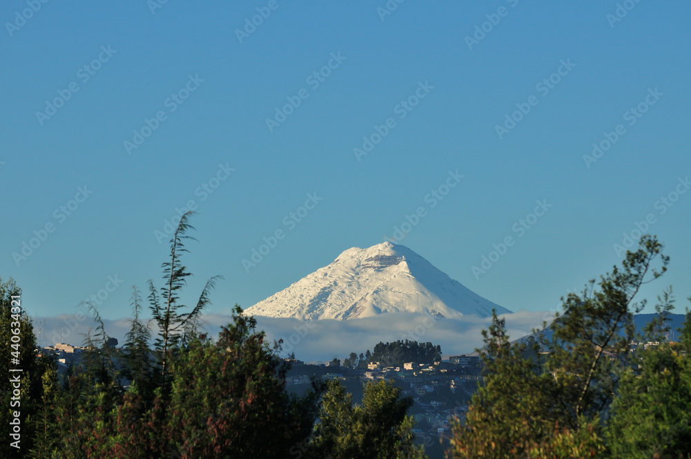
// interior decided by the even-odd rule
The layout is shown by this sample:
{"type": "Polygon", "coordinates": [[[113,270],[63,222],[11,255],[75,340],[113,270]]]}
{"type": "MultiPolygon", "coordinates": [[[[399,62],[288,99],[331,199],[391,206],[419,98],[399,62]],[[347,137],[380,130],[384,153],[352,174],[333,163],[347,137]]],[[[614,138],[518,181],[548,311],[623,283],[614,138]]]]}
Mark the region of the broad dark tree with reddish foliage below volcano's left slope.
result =
{"type": "Polygon", "coordinates": [[[290,364],[255,328],[236,306],[218,341],[191,341],[173,364],[167,429],[181,458],[285,458],[309,437],[319,387],[287,392],[290,364]]]}

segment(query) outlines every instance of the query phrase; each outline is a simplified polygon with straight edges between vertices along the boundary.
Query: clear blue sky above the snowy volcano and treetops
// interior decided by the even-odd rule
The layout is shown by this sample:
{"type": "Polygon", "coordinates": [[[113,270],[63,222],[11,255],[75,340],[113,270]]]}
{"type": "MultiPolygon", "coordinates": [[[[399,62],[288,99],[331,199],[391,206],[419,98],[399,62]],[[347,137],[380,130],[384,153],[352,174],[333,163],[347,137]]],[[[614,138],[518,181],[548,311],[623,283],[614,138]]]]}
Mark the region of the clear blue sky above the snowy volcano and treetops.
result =
{"type": "Polygon", "coordinates": [[[31,315],[129,315],[189,201],[210,312],[385,237],[547,310],[636,222],[672,259],[644,293],[688,304],[688,1],[159,1],[3,4],[0,275],[31,315]]]}

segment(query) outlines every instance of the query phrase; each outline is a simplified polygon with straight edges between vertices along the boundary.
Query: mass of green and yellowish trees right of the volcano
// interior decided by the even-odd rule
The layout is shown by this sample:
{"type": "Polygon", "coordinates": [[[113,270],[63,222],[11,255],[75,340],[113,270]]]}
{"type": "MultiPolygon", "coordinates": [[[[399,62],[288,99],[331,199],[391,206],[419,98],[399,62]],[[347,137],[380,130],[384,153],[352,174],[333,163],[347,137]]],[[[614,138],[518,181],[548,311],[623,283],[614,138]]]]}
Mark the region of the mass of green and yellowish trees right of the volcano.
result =
{"type": "Polygon", "coordinates": [[[643,337],[633,322],[641,285],[665,272],[662,248],[642,238],[621,268],[569,294],[539,339],[511,344],[493,317],[484,382],[455,424],[453,458],[691,457],[691,315],[681,341],[666,341],[669,289],[643,337]],[[632,349],[634,338],[659,344],[632,349]]]}

